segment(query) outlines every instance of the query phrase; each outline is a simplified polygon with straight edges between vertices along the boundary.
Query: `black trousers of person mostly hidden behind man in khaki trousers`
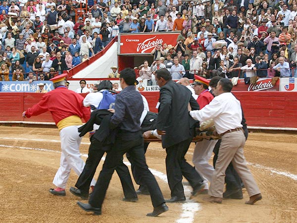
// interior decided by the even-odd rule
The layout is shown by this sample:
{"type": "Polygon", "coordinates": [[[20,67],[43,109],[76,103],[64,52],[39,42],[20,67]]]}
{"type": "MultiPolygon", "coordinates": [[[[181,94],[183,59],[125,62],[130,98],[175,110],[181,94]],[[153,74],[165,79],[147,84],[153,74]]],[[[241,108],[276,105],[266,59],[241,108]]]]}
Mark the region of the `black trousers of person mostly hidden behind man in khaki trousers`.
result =
{"type": "MultiPolygon", "coordinates": [[[[245,129],[245,136],[247,139],[247,135],[248,135],[248,130],[245,129]]],[[[213,153],[214,153],[214,157],[213,157],[213,167],[215,168],[215,163],[218,159],[218,154],[219,154],[219,148],[220,148],[220,144],[221,144],[221,140],[218,140],[218,142],[215,144],[214,148],[213,148],[213,153]]],[[[229,166],[227,167],[226,171],[225,171],[225,182],[226,182],[226,190],[238,190],[241,189],[241,178],[238,175],[237,171],[234,169],[232,162],[229,164],[229,166]]]]}

